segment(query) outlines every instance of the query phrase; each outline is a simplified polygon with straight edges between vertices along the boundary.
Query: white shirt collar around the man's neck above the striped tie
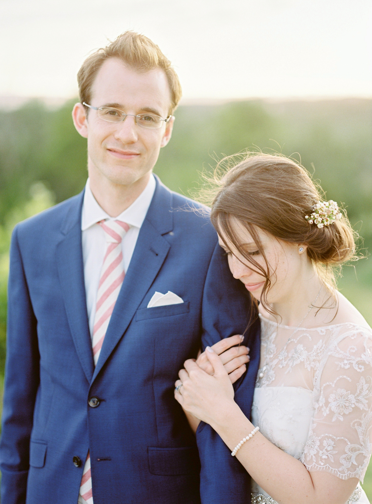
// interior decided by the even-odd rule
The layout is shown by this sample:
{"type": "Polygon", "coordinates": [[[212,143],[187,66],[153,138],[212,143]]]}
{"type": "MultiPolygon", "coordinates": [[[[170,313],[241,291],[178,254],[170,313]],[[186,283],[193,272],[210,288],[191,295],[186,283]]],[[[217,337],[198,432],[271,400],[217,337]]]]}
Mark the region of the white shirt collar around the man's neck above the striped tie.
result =
{"type": "Polygon", "coordinates": [[[84,200],[81,211],[81,230],[85,231],[88,227],[104,219],[120,220],[126,222],[130,226],[140,228],[145,220],[152,197],[154,196],[155,187],[155,177],[151,174],[146,187],[132,205],[117,217],[110,217],[93,196],[88,178],[85,184],[84,200]]]}

